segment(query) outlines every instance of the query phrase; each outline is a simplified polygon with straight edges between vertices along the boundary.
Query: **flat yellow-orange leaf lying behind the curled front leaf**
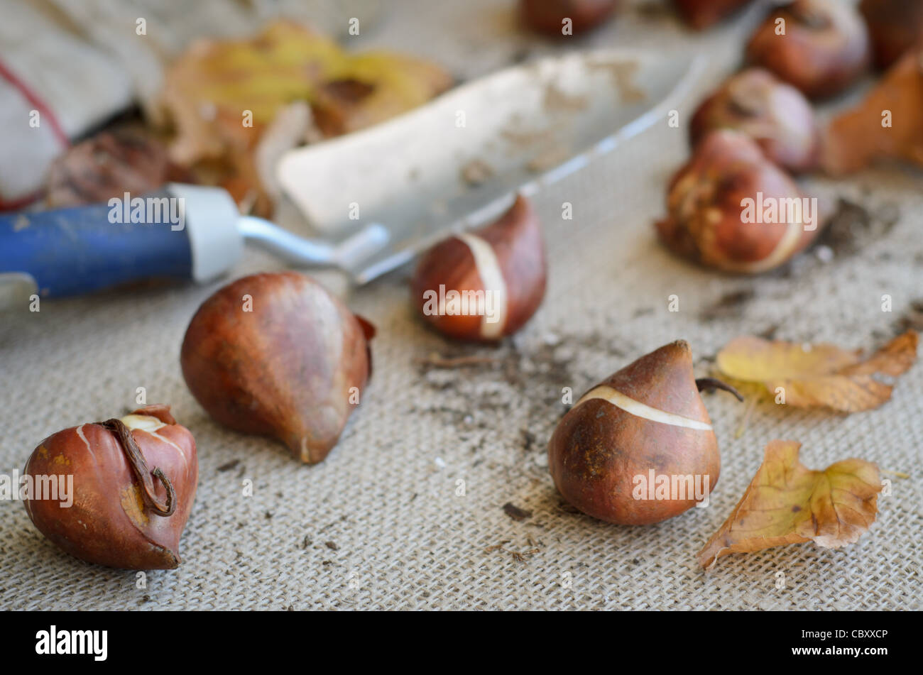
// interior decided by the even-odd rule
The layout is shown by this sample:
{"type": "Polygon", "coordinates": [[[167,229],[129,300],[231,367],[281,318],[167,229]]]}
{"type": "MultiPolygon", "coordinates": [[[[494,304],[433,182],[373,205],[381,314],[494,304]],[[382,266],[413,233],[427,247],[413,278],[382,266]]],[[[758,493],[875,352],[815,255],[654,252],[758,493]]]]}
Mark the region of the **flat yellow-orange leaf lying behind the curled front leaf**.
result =
{"type": "Polygon", "coordinates": [[[834,345],[744,337],[719,351],[716,363],[728,377],[760,382],[773,394],[782,387],[787,405],[859,412],[891,398],[893,386],[875,375],[905,373],[917,361],[918,340],[917,332],[908,330],[863,360],[861,351],[834,345]]]}

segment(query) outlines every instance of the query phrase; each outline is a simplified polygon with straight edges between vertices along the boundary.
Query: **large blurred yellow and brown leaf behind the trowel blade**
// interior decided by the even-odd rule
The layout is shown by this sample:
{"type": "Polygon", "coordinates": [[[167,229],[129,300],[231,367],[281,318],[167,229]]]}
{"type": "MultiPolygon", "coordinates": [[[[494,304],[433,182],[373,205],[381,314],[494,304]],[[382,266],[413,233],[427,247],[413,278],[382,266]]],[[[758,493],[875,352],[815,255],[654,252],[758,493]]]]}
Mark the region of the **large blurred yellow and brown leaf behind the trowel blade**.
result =
{"type": "Polygon", "coordinates": [[[193,44],[167,70],[160,102],[174,130],[171,158],[198,183],[221,185],[244,212],[270,216],[278,186],[267,165],[280,152],[382,122],[451,83],[438,65],[347,53],[277,21],[253,39],[193,44]]]}

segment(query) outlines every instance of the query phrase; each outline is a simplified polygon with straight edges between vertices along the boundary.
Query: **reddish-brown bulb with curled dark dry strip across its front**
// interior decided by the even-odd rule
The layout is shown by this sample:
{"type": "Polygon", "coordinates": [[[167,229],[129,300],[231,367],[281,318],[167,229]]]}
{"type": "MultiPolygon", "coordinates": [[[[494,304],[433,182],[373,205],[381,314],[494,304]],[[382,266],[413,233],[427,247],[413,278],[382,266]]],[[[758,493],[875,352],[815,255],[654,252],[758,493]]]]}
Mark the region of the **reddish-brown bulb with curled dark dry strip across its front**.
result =
{"type": "MultiPolygon", "coordinates": [[[[174,569],[198,485],[196,442],[169,406],[146,406],[122,420],[150,470],[161,469],[173,485],[173,514],[157,515],[144,502],[124,447],[114,432],[94,423],[44,439],[24,470],[33,480],[73,476],[73,503],[29,499],[26,511],[46,538],[80,560],[129,570],[174,569]]],[[[165,500],[164,486],[155,486],[165,500]]]]}

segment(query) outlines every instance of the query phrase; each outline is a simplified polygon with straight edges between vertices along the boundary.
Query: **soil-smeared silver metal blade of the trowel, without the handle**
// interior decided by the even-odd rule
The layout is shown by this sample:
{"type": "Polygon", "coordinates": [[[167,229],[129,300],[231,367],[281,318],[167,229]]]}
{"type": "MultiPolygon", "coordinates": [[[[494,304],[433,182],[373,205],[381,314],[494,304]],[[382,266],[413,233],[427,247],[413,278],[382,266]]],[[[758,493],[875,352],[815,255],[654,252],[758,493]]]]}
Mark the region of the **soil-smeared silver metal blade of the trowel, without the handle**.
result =
{"type": "Polygon", "coordinates": [[[704,66],[632,49],[513,66],[389,122],[289,151],[278,179],[322,234],[350,231],[354,219],[387,228],[390,243],[347,269],[365,284],[665,120],[704,66]]]}

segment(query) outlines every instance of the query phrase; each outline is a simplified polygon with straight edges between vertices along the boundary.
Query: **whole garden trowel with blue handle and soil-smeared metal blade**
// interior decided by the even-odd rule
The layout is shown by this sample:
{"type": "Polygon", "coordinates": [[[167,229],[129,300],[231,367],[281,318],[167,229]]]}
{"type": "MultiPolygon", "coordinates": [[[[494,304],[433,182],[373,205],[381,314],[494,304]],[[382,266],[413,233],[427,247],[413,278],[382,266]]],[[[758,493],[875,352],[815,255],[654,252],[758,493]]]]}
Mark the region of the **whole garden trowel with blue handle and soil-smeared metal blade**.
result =
{"type": "MultiPolygon", "coordinates": [[[[150,278],[208,282],[255,244],[358,285],[612,152],[685,96],[704,60],[610,49],[514,66],[388,122],[286,153],[277,177],[319,238],[241,216],[221,188],[0,217],[0,308],[150,278]],[[132,222],[135,220],[135,222],[132,222]],[[364,226],[362,223],[366,223],[364,226]]],[[[21,306],[21,305],[19,305],[21,306]]]]}

